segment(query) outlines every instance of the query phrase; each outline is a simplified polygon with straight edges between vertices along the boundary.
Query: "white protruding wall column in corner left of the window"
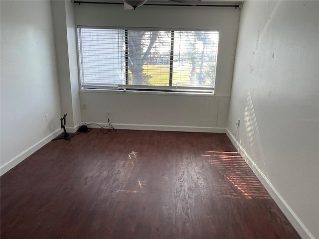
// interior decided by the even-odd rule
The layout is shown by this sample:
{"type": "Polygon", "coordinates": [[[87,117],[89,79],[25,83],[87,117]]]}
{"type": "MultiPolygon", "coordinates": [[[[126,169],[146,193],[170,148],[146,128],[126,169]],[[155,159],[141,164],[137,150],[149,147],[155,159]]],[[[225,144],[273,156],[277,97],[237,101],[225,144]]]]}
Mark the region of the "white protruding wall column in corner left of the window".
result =
{"type": "Polygon", "coordinates": [[[67,113],[66,128],[75,132],[81,113],[74,4],[70,0],[51,1],[51,4],[62,115],[67,113]]]}

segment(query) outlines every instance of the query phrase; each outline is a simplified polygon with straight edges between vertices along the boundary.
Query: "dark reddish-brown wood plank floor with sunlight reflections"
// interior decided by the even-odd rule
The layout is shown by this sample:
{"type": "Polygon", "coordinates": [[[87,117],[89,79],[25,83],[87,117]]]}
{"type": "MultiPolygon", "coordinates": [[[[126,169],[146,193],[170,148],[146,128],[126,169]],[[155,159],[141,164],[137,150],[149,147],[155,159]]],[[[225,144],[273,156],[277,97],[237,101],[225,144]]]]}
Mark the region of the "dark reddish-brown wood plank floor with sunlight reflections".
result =
{"type": "Polygon", "coordinates": [[[226,134],[99,129],[1,177],[1,239],[299,239],[226,134]]]}

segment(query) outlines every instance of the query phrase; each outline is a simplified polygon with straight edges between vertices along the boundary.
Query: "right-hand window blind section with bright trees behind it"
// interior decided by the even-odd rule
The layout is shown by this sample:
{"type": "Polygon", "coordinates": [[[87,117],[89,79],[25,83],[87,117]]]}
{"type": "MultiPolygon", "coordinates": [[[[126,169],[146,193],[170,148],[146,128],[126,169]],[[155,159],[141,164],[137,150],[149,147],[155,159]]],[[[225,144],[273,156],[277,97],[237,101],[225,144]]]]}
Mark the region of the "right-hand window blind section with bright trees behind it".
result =
{"type": "Polygon", "coordinates": [[[175,31],[173,86],[215,86],[218,31],[175,31]]]}

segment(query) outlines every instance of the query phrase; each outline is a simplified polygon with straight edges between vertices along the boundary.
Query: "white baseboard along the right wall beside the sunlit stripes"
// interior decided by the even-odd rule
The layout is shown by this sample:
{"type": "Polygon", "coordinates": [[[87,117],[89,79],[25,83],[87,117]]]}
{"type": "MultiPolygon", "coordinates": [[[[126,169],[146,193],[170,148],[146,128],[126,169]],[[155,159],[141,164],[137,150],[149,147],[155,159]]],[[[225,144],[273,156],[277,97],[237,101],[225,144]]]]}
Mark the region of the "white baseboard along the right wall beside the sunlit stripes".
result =
{"type": "Polygon", "coordinates": [[[256,174],[256,176],[258,177],[260,182],[264,185],[264,187],[266,188],[266,190],[268,191],[270,196],[274,199],[274,201],[276,202],[278,207],[285,214],[285,216],[287,217],[289,222],[296,229],[296,231],[301,236],[301,238],[302,239],[315,239],[315,237],[311,234],[311,232],[309,232],[309,230],[306,228],[306,226],[303,224],[303,222],[298,218],[298,216],[291,209],[291,207],[289,207],[289,205],[284,200],[284,198],[279,194],[279,192],[276,190],[276,188],[271,184],[271,182],[268,180],[268,178],[265,176],[265,174],[255,164],[255,162],[248,155],[248,153],[245,151],[245,149],[240,145],[240,143],[237,141],[237,139],[229,131],[228,128],[226,128],[226,134],[229,137],[232,144],[237,148],[238,152],[244,158],[246,163],[249,165],[249,167],[256,174]]]}

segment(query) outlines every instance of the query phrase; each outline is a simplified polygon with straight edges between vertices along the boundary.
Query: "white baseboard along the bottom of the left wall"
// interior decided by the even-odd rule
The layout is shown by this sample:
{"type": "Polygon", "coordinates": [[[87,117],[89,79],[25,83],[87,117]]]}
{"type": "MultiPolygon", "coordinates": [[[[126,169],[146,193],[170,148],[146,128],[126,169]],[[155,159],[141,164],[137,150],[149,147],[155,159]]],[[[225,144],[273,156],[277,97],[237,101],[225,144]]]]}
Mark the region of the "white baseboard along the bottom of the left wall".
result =
{"type": "Polygon", "coordinates": [[[19,153],[15,157],[11,158],[6,163],[2,164],[0,166],[0,175],[3,175],[7,171],[9,171],[11,168],[22,162],[24,159],[26,159],[28,156],[30,156],[32,153],[34,153],[36,150],[43,147],[45,144],[50,142],[53,138],[57,137],[62,132],[62,129],[59,128],[55,130],[53,133],[50,133],[46,137],[42,138],[40,141],[36,142],[32,146],[25,149],[23,152],[19,153]]]}

